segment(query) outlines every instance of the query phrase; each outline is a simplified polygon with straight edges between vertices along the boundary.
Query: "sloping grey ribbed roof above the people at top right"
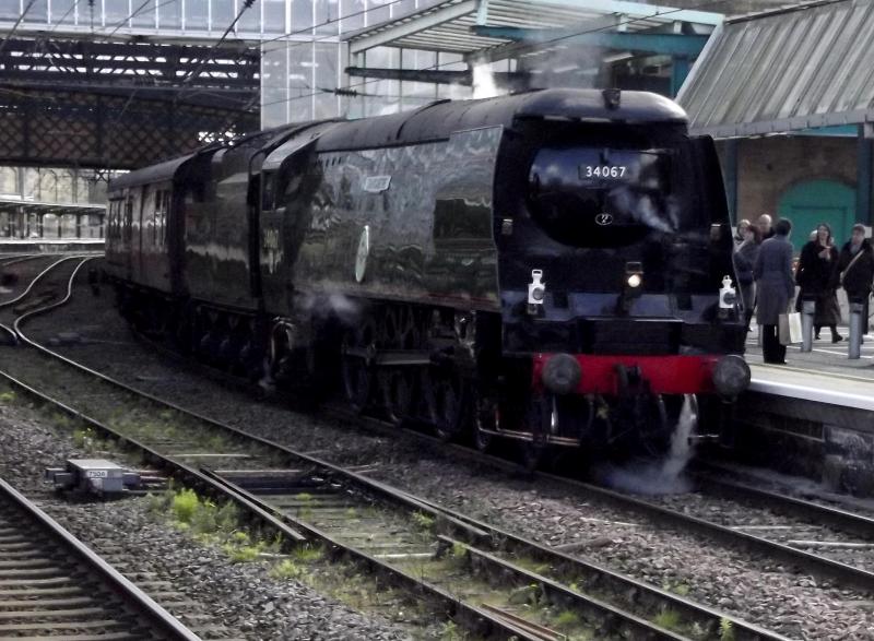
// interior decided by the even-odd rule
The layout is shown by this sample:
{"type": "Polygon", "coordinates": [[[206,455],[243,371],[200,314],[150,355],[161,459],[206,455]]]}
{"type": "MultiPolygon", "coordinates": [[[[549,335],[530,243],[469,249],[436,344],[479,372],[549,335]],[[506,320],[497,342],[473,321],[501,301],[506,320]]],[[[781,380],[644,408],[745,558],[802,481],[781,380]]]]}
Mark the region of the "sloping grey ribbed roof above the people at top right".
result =
{"type": "Polygon", "coordinates": [[[727,21],[677,102],[694,132],[714,138],[874,121],[874,2],[820,0],[727,21]]]}

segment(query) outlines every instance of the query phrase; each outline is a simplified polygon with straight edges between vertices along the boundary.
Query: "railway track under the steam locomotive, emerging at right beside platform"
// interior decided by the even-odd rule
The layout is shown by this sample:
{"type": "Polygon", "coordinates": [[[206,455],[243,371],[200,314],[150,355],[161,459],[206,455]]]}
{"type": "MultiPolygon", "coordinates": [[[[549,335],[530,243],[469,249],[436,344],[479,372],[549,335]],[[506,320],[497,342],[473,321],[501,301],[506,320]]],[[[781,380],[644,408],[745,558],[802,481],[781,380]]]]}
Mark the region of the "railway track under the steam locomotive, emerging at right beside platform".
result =
{"type": "MultiPolygon", "coordinates": [[[[367,423],[370,424],[368,429],[382,434],[398,429],[376,419],[367,419],[367,423]]],[[[437,438],[417,430],[408,431],[416,439],[440,444],[437,438]]],[[[512,473],[527,472],[517,463],[468,447],[442,447],[472,462],[485,462],[512,473]]],[[[662,526],[695,532],[819,579],[874,593],[874,518],[759,490],[713,474],[695,475],[694,492],[646,498],[566,475],[542,471],[531,474],[594,503],[619,507],[662,526]]]]}

